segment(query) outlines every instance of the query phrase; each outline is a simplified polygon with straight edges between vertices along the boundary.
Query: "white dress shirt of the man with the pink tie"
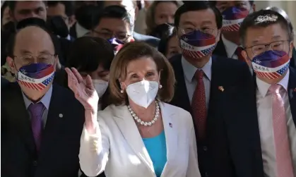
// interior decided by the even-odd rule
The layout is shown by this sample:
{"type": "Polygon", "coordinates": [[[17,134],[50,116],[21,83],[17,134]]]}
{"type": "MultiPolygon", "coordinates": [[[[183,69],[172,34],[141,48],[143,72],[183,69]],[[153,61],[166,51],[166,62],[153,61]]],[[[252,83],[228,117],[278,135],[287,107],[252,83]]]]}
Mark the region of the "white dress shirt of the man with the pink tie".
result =
{"type": "MultiPolygon", "coordinates": [[[[288,126],[288,136],[290,139],[290,150],[292,154],[292,163],[294,167],[294,175],[296,176],[296,128],[294,121],[292,119],[292,113],[290,109],[290,102],[288,96],[288,81],[289,73],[285,75],[283,80],[280,80],[278,83],[282,85],[280,89],[280,95],[283,97],[285,105],[285,115],[287,118],[288,126]]],[[[256,91],[256,100],[257,100],[257,114],[259,118],[259,132],[261,140],[261,149],[262,149],[262,159],[264,162],[264,173],[268,177],[281,177],[277,176],[276,170],[276,147],[273,136],[273,115],[272,115],[272,94],[268,92],[269,87],[271,86],[268,83],[256,78],[257,91],[256,91]]]]}

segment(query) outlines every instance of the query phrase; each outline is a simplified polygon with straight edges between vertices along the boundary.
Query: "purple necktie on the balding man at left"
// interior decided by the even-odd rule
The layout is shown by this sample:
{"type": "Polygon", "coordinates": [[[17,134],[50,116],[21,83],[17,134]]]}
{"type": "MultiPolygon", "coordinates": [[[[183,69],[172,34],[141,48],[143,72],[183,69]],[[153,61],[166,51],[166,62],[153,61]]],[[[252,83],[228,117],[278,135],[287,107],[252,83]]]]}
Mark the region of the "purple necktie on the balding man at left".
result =
{"type": "Polygon", "coordinates": [[[42,124],[43,109],[44,109],[44,105],[42,104],[42,102],[39,102],[37,104],[30,104],[28,108],[31,114],[32,133],[33,133],[35,145],[38,152],[40,149],[41,135],[43,130],[43,124],[42,124]]]}

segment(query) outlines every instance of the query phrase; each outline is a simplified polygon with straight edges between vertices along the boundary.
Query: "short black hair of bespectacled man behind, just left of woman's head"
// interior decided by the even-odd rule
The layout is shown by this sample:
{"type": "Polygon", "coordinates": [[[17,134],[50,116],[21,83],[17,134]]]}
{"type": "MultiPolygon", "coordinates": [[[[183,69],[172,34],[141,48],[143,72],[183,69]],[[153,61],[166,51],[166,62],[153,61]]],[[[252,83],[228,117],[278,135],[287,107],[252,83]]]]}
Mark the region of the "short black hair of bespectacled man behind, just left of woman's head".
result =
{"type": "Polygon", "coordinates": [[[103,8],[101,13],[98,13],[94,19],[93,28],[100,24],[102,18],[118,18],[129,23],[131,29],[134,28],[134,22],[131,21],[130,14],[122,6],[107,6],[103,8]]]}

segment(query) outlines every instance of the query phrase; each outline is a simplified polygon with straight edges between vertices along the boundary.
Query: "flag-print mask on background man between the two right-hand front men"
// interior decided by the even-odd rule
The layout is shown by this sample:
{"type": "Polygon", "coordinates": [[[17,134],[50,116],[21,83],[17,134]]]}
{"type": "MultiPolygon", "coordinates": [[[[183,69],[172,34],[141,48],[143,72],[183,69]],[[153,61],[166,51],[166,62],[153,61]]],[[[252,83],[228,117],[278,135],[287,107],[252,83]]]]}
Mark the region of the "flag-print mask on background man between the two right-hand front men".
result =
{"type": "Polygon", "coordinates": [[[222,31],[239,31],[242,21],[249,14],[246,8],[230,7],[223,11],[222,31]]]}

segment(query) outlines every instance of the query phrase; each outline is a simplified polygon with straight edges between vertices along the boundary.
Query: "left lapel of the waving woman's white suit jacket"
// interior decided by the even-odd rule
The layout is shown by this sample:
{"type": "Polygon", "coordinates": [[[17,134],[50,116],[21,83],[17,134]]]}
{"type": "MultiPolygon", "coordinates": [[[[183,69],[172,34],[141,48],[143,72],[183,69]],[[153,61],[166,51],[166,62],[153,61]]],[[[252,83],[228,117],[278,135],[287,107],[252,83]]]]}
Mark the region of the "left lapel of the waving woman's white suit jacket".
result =
{"type": "Polygon", "coordinates": [[[117,106],[116,109],[113,109],[115,117],[114,121],[117,123],[122,135],[126,139],[126,142],[129,144],[134,153],[146,164],[150,171],[153,171],[153,162],[150,159],[148,151],[143,143],[140,133],[134,118],[131,116],[131,113],[127,109],[127,106],[117,106]]]}

